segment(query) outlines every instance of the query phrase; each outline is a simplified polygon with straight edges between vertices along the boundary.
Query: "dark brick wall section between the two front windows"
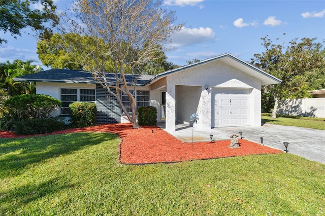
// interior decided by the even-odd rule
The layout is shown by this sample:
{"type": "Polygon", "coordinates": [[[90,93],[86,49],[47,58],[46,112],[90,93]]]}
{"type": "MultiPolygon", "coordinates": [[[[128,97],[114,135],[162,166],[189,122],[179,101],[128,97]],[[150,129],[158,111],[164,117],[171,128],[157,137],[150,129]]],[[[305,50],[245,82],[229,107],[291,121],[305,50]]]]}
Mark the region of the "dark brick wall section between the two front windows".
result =
{"type": "Polygon", "coordinates": [[[121,122],[121,109],[116,97],[99,84],[96,84],[96,105],[98,124],[121,122]]]}

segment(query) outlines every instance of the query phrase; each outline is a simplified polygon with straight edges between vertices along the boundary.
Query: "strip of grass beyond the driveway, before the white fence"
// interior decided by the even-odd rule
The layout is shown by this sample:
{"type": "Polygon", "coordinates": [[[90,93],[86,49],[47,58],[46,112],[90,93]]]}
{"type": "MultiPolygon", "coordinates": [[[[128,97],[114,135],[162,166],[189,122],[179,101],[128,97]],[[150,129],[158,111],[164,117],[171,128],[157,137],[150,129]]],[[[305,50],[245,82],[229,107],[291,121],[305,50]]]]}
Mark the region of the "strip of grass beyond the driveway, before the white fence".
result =
{"type": "Polygon", "coordinates": [[[272,114],[262,114],[262,122],[275,125],[297,126],[325,130],[324,118],[277,115],[276,119],[272,119],[272,114]]]}

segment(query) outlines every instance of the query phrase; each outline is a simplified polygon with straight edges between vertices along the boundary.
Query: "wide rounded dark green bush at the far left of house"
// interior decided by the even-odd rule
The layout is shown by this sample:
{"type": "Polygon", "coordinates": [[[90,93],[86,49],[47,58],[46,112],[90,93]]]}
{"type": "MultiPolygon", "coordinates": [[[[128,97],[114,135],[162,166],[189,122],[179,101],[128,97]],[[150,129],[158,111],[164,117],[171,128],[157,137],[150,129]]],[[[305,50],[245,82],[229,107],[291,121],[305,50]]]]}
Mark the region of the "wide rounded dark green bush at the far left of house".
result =
{"type": "Polygon", "coordinates": [[[13,96],[4,102],[11,116],[22,119],[47,119],[51,113],[61,107],[62,102],[44,94],[22,94],[13,96]]]}

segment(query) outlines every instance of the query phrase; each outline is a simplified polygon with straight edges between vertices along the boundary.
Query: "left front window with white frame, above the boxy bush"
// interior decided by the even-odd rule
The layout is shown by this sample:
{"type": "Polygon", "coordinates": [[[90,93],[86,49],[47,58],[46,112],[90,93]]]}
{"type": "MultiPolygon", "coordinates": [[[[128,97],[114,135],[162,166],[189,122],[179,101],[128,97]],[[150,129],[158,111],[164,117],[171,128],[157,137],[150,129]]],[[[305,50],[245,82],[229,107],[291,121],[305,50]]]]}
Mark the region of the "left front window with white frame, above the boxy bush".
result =
{"type": "Polygon", "coordinates": [[[95,102],[95,89],[60,89],[61,94],[61,115],[67,116],[70,113],[69,105],[76,101],[95,102]]]}

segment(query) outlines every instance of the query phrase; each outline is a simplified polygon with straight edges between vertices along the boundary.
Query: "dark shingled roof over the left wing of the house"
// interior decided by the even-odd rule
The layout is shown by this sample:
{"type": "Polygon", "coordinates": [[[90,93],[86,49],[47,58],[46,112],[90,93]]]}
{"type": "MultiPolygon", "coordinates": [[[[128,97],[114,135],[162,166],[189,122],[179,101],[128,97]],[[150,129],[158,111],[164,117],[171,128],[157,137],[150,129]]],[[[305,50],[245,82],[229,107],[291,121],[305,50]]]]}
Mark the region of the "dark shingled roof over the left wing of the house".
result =
{"type": "MultiPolygon", "coordinates": [[[[138,75],[127,74],[125,75],[127,84],[132,84],[138,75]]],[[[148,82],[153,76],[151,75],[140,75],[137,80],[137,85],[143,85],[148,82]]],[[[115,85],[116,79],[115,74],[107,73],[106,79],[108,84],[115,85]]],[[[56,83],[97,83],[92,77],[89,71],[85,70],[70,70],[70,69],[49,69],[42,70],[36,74],[30,74],[23,77],[16,77],[14,81],[19,82],[56,82],[56,83]]]]}

